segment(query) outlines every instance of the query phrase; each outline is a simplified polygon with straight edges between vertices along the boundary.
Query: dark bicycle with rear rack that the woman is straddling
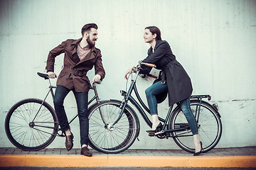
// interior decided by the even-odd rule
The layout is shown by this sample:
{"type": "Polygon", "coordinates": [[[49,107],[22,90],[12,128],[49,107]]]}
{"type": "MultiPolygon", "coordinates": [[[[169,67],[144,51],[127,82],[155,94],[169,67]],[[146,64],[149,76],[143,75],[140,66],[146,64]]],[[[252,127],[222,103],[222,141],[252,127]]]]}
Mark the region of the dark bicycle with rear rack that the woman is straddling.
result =
{"type": "MultiPolygon", "coordinates": [[[[147,65],[152,67],[152,64],[147,65]]],[[[111,99],[110,101],[102,101],[90,108],[90,146],[99,152],[107,154],[123,152],[139,136],[139,117],[137,112],[129,106],[129,102],[132,103],[134,108],[137,108],[146,124],[151,128],[152,123],[146,115],[146,112],[149,113],[149,108],[140,98],[136,87],[139,76],[138,66],[137,72],[132,72],[135,77],[131,80],[129,90],[120,91],[124,97],[122,101],[111,99]],[[132,92],[134,92],[139,103],[132,96],[132,92]]],[[[211,105],[203,101],[203,98],[208,98],[208,101],[210,101],[211,97],[210,95],[191,96],[191,108],[198,123],[199,136],[201,142],[203,142],[203,152],[208,152],[220,141],[222,123],[217,103],[211,105]]],[[[165,119],[159,118],[164,125],[160,132],[155,133],[155,136],[160,139],[172,137],[178,147],[186,152],[194,153],[193,135],[188,122],[178,103],[173,108],[173,106],[169,108],[165,119]]]]}

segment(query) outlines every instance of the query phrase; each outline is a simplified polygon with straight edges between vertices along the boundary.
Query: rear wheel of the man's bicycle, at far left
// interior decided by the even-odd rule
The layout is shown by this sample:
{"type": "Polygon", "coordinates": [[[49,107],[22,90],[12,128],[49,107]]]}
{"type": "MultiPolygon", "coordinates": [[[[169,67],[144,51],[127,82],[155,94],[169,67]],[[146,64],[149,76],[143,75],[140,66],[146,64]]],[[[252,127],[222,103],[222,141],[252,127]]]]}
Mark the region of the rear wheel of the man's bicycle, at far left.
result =
{"type": "Polygon", "coordinates": [[[10,108],[6,115],[5,130],[14,146],[24,151],[38,151],[55,139],[58,118],[48,103],[38,98],[26,98],[10,108]]]}

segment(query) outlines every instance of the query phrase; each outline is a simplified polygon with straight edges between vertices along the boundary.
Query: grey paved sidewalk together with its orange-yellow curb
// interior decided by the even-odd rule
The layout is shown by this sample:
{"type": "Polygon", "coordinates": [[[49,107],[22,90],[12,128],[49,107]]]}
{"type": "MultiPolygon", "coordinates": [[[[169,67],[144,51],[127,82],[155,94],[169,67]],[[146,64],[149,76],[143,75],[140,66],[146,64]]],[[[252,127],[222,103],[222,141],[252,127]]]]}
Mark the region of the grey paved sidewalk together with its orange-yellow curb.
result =
{"type": "Polygon", "coordinates": [[[25,152],[17,148],[0,148],[0,166],[187,166],[187,167],[255,167],[256,147],[212,149],[193,157],[183,150],[134,150],[103,154],[92,150],[93,157],[80,155],[80,149],[43,149],[25,152]]]}

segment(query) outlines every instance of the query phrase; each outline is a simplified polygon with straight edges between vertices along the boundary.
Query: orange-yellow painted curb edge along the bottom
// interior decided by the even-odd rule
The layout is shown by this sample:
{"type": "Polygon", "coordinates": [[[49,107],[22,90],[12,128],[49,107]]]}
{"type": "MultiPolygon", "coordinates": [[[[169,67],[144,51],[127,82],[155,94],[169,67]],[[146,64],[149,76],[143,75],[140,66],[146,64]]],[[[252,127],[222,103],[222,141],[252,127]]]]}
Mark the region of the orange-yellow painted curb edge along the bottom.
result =
{"type": "Polygon", "coordinates": [[[48,167],[256,167],[256,156],[228,157],[149,157],[149,156],[102,156],[82,155],[0,155],[0,166],[48,166],[48,167]]]}

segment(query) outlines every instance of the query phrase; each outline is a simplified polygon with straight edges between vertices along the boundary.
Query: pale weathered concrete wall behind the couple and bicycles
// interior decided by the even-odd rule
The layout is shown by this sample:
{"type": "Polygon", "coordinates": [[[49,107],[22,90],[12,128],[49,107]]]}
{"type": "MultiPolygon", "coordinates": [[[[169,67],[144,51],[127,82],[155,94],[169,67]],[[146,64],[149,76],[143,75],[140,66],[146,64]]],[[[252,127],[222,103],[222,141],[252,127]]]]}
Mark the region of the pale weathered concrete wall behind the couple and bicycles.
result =
{"type": "MultiPolygon", "coordinates": [[[[0,0],[0,147],[13,147],[4,131],[9,108],[23,98],[46,95],[48,83],[36,72],[44,72],[49,50],[63,40],[80,38],[85,23],[99,26],[96,46],[107,72],[97,86],[102,99],[122,99],[124,72],[144,59],[149,48],[144,28],[158,26],[190,75],[193,94],[210,94],[211,103],[218,102],[223,135],[217,147],[256,145],[256,1],[0,0]]],[[[62,63],[60,55],[56,73],[62,63]]],[[[151,83],[139,79],[137,84],[144,96],[151,83]]],[[[72,93],[65,107],[68,116],[76,113],[72,93]]],[[[160,113],[167,108],[161,104],[160,113]]],[[[132,148],[176,148],[171,139],[149,138],[142,119],[141,125],[140,141],[132,148]]],[[[72,128],[75,147],[80,147],[78,121],[72,128]]],[[[57,137],[49,147],[64,147],[64,139],[57,137]]]]}

